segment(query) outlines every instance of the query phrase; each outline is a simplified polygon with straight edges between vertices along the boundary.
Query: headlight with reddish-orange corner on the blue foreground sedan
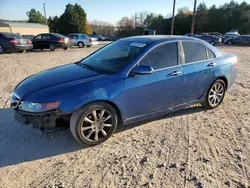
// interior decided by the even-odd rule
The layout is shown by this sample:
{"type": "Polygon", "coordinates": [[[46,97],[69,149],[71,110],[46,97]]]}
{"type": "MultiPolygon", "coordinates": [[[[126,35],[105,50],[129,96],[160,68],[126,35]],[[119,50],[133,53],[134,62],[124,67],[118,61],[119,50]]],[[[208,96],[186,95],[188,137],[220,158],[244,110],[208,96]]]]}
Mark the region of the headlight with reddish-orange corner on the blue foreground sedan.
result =
{"type": "Polygon", "coordinates": [[[58,108],[60,102],[50,102],[50,103],[33,103],[28,101],[23,101],[19,105],[19,110],[27,112],[45,112],[58,108]]]}

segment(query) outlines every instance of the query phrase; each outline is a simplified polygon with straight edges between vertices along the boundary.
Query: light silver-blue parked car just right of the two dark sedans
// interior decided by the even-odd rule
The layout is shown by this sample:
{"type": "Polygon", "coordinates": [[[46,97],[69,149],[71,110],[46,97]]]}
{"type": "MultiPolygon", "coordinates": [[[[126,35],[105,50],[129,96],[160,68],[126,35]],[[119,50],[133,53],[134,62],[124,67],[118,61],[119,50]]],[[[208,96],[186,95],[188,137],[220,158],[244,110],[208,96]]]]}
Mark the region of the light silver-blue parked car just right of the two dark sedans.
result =
{"type": "Polygon", "coordinates": [[[68,34],[67,37],[71,39],[73,46],[78,46],[79,48],[83,48],[84,46],[91,47],[92,42],[94,42],[94,39],[81,33],[68,34]]]}

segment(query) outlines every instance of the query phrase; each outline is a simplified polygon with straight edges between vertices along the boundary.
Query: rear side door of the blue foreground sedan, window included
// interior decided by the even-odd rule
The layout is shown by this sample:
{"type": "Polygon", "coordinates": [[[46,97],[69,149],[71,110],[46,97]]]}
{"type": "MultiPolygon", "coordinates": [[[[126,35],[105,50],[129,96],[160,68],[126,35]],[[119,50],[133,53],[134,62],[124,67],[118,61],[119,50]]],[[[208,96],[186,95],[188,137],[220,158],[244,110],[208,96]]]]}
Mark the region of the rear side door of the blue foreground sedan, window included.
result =
{"type": "Polygon", "coordinates": [[[182,103],[199,100],[215,77],[216,56],[202,43],[182,41],[184,52],[182,103]]]}

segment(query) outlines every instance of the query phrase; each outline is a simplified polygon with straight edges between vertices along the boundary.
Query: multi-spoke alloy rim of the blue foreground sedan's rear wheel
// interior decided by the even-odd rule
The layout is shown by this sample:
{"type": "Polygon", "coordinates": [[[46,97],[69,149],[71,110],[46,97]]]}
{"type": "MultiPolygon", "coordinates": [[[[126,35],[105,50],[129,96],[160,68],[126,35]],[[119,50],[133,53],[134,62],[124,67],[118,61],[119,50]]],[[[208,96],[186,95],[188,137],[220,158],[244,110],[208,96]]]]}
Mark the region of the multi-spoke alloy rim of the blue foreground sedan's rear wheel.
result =
{"type": "Polygon", "coordinates": [[[211,107],[218,106],[225,94],[225,87],[221,82],[215,83],[208,94],[208,102],[211,107]]]}

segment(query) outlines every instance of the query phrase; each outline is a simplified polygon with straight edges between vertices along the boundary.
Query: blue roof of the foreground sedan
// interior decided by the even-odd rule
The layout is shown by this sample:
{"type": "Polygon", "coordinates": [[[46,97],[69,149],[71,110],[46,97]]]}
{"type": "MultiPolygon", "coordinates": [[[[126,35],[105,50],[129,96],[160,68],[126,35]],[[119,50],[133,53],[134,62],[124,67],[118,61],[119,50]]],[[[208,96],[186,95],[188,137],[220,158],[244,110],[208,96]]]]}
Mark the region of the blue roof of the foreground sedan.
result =
{"type": "Polygon", "coordinates": [[[122,38],[119,41],[133,41],[133,42],[142,42],[145,44],[151,44],[151,43],[158,43],[158,42],[161,43],[165,41],[179,41],[179,40],[197,41],[198,39],[193,37],[185,37],[177,35],[144,35],[144,36],[122,38]]]}

